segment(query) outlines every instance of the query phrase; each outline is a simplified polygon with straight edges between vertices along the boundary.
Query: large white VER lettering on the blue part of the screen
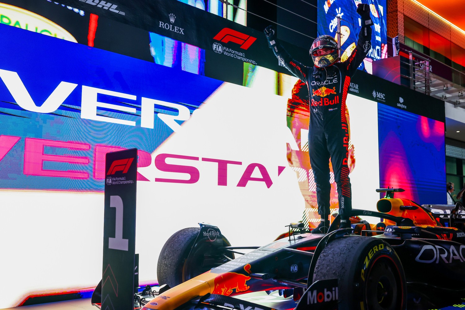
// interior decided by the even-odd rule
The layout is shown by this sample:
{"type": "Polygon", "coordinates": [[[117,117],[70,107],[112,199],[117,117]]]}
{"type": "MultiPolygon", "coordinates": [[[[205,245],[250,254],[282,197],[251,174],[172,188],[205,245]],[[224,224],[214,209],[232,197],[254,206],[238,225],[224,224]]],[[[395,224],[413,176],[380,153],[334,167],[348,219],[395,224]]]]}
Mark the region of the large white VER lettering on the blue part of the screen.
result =
{"type": "MultiPolygon", "coordinates": [[[[78,86],[78,84],[69,83],[69,82],[60,82],[58,86],[53,90],[53,92],[48,96],[45,102],[41,106],[37,106],[32,99],[31,95],[24,86],[24,83],[20,79],[18,73],[8,70],[0,69],[0,78],[7,86],[8,91],[13,96],[13,99],[16,101],[18,106],[23,108],[26,111],[38,112],[38,113],[52,113],[55,112],[63,102],[69,97],[71,92],[78,86]]],[[[136,109],[126,106],[118,106],[109,103],[103,103],[97,101],[97,97],[102,95],[109,95],[118,98],[124,98],[128,100],[136,100],[137,96],[133,94],[127,94],[124,92],[113,92],[106,89],[100,89],[91,86],[82,86],[81,93],[81,119],[92,119],[101,122],[107,123],[116,123],[128,126],[135,126],[136,122],[126,119],[118,119],[114,117],[107,117],[98,115],[97,111],[99,108],[104,109],[113,109],[128,113],[136,114],[136,109]]],[[[154,124],[154,108],[157,106],[167,106],[174,108],[179,111],[178,115],[168,115],[164,113],[158,113],[157,116],[161,119],[168,127],[170,127],[173,132],[180,130],[181,125],[176,121],[185,121],[191,117],[191,112],[186,106],[165,102],[156,99],[150,98],[141,98],[141,113],[140,113],[140,126],[145,128],[152,128],[154,124]]]]}

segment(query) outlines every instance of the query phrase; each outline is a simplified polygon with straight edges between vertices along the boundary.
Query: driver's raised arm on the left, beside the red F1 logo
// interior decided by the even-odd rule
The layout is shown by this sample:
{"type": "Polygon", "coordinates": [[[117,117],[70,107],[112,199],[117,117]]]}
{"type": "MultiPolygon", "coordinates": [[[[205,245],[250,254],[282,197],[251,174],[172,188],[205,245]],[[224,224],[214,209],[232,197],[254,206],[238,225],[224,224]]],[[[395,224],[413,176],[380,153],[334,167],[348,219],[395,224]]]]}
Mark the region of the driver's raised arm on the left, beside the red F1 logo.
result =
{"type": "Polygon", "coordinates": [[[293,59],[289,53],[281,46],[279,41],[276,39],[275,30],[272,26],[268,26],[264,30],[266,40],[268,40],[268,47],[273,49],[273,53],[279,59],[279,61],[286,66],[294,76],[301,79],[306,83],[308,67],[301,64],[299,61],[293,59]]]}

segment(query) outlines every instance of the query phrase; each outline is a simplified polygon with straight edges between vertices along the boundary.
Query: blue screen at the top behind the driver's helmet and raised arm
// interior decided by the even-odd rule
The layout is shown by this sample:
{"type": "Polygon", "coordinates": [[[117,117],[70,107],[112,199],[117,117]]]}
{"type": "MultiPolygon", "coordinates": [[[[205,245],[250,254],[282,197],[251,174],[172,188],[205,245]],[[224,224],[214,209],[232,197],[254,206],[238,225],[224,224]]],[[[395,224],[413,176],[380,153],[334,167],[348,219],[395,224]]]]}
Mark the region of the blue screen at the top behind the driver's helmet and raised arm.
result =
{"type": "MultiPolygon", "coordinates": [[[[349,57],[357,44],[360,31],[360,16],[357,14],[357,5],[360,0],[319,0],[318,1],[318,35],[329,34],[336,37],[338,19],[341,17],[341,54],[342,61],[349,57]],[[346,56],[344,56],[346,52],[346,56]]],[[[363,1],[366,3],[366,1],[363,1]]],[[[385,58],[387,51],[387,23],[386,0],[369,0],[372,26],[372,48],[367,58],[374,60],[385,58]]],[[[359,69],[365,69],[362,63],[359,69]]],[[[371,68],[366,68],[371,73],[371,68]]],[[[366,71],[365,70],[365,71],[366,71]]]]}

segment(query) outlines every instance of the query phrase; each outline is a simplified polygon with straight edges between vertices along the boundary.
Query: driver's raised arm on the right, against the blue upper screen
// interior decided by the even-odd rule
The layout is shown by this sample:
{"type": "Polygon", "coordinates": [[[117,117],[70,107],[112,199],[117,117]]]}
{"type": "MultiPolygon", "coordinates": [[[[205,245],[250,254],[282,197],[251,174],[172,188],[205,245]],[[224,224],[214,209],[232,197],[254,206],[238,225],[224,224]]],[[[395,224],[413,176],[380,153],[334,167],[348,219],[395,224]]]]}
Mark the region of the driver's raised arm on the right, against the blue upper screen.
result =
{"type": "Polygon", "coordinates": [[[350,76],[352,76],[357,71],[357,68],[360,66],[363,59],[365,59],[366,55],[368,54],[368,51],[372,47],[371,26],[373,25],[373,22],[372,18],[370,17],[370,6],[365,3],[359,4],[357,7],[357,13],[359,13],[362,20],[362,28],[359,32],[359,40],[357,41],[357,46],[353,50],[350,57],[343,62],[344,67],[348,72],[347,74],[350,76]]]}

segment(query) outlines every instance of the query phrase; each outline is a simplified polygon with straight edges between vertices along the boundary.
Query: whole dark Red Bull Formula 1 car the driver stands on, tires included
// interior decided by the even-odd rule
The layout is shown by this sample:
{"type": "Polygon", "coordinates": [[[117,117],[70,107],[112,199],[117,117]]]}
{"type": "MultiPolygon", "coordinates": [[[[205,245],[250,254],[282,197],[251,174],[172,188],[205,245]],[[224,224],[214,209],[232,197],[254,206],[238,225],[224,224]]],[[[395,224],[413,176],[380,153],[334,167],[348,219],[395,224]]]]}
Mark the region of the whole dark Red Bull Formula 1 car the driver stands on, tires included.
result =
{"type": "Polygon", "coordinates": [[[182,229],[159,256],[159,283],[166,285],[136,294],[136,304],[143,310],[270,310],[233,296],[273,290],[293,296],[292,306],[279,309],[295,310],[428,309],[459,301],[465,293],[463,206],[457,203],[445,222],[394,198],[402,189],[377,191],[386,192],[378,211],[352,210],[352,228],[338,229],[339,215],[327,234],[291,224],[261,247],[231,246],[213,225],[182,229]],[[369,224],[359,216],[381,221],[369,224]],[[245,249],[253,251],[234,258],[245,249]]]}

